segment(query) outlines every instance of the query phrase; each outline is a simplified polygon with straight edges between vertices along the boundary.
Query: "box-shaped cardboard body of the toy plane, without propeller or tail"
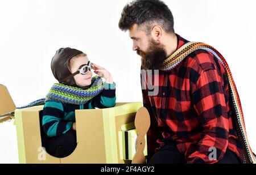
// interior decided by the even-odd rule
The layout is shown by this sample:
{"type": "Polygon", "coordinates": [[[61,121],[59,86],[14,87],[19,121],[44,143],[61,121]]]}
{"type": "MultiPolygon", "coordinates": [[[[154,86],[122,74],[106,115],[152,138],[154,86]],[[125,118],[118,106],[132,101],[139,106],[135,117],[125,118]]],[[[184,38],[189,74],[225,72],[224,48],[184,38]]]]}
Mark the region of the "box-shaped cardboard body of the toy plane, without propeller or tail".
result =
{"type": "MultiPolygon", "coordinates": [[[[126,163],[118,132],[134,122],[142,103],[117,103],[113,108],[76,110],[77,147],[64,158],[42,148],[39,113],[43,105],[15,110],[20,163],[126,163]]],[[[134,133],[134,132],[133,132],[134,133]]],[[[133,134],[134,137],[134,134],[133,134]]]]}

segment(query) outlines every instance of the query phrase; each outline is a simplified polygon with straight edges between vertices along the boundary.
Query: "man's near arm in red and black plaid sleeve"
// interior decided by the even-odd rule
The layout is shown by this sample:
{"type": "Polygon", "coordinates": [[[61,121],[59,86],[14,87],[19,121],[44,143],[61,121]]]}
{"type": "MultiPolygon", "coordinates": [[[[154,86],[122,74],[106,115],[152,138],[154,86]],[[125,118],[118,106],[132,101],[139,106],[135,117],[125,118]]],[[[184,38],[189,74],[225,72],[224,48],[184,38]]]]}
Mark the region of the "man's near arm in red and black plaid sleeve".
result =
{"type": "Polygon", "coordinates": [[[226,152],[229,120],[223,84],[215,66],[203,70],[197,82],[191,83],[192,104],[204,130],[197,150],[188,156],[187,163],[216,163],[226,152]],[[215,152],[216,160],[212,160],[215,152]]]}

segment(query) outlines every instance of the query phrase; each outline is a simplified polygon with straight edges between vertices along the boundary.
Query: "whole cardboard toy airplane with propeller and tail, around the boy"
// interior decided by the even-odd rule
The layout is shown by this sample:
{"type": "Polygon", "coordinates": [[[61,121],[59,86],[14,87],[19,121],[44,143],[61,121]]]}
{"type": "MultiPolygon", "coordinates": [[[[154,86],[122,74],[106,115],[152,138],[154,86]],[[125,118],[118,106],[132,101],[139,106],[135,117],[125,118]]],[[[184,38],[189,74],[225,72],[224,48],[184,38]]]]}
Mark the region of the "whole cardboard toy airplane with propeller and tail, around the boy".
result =
{"type": "Polygon", "coordinates": [[[43,147],[43,105],[16,109],[3,85],[0,97],[0,122],[15,119],[19,163],[146,163],[150,117],[141,102],[76,110],[77,147],[71,155],[57,158],[43,147]]]}

